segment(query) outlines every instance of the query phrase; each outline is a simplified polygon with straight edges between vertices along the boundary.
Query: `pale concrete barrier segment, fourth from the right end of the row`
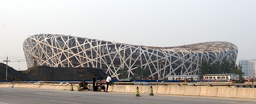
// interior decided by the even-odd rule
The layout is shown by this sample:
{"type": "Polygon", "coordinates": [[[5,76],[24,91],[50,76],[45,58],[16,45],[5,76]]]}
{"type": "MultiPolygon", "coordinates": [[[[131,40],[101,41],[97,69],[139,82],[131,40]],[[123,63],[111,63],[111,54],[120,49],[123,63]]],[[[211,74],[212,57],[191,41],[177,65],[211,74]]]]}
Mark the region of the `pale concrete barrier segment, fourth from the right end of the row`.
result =
{"type": "Polygon", "coordinates": [[[200,86],[185,86],[183,95],[198,96],[200,94],[200,86]]]}

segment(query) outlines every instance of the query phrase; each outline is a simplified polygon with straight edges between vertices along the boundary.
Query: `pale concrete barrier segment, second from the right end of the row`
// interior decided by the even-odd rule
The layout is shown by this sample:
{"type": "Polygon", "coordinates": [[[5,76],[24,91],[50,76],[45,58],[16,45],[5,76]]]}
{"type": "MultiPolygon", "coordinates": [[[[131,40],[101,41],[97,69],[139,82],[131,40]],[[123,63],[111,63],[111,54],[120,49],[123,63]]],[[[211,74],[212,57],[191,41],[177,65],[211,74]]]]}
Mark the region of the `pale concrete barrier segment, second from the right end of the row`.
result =
{"type": "Polygon", "coordinates": [[[237,88],[234,87],[218,87],[218,93],[216,97],[223,98],[235,98],[237,93],[237,88]]]}

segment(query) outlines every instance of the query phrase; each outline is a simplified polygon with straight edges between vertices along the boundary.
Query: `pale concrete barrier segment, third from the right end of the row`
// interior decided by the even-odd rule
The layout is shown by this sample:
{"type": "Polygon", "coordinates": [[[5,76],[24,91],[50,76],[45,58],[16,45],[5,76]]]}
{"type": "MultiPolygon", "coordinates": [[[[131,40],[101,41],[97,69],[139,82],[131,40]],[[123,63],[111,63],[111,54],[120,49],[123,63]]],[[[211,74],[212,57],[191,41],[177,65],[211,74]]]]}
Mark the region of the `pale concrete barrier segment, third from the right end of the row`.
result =
{"type": "Polygon", "coordinates": [[[201,87],[199,96],[209,96],[216,97],[218,92],[218,87],[201,87]]]}

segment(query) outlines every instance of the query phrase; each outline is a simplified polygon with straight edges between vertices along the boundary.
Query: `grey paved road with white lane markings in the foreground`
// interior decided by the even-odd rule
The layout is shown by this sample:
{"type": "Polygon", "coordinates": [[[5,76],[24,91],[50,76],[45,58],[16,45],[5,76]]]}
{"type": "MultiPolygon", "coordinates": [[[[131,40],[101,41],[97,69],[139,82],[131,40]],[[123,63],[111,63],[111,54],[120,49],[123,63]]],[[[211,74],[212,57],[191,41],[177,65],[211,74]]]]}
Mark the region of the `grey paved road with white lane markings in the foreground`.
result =
{"type": "Polygon", "coordinates": [[[256,104],[256,100],[134,93],[0,88],[0,104],[256,104]]]}

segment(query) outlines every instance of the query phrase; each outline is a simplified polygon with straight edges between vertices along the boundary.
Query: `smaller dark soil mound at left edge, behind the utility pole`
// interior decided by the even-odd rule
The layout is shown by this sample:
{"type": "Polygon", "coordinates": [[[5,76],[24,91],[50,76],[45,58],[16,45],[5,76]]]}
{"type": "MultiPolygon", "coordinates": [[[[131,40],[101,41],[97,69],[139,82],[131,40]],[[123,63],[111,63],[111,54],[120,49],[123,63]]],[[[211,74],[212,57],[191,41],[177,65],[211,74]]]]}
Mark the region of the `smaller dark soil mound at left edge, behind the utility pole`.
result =
{"type": "MultiPolygon", "coordinates": [[[[5,77],[6,77],[6,64],[0,63],[0,80],[5,80],[5,77]]],[[[7,80],[12,80],[13,77],[16,77],[16,81],[24,81],[26,78],[22,73],[8,66],[7,80]]]]}

